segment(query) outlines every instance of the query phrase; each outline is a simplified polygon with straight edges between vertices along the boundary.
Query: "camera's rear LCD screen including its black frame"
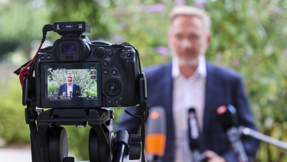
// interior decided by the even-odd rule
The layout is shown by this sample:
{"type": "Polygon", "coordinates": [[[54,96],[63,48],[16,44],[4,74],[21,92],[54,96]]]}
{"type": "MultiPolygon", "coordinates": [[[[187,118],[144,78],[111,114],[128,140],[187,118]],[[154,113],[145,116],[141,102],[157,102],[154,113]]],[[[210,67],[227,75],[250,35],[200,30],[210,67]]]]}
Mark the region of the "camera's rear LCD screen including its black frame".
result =
{"type": "Polygon", "coordinates": [[[44,65],[45,106],[100,107],[100,63],[44,65]]]}

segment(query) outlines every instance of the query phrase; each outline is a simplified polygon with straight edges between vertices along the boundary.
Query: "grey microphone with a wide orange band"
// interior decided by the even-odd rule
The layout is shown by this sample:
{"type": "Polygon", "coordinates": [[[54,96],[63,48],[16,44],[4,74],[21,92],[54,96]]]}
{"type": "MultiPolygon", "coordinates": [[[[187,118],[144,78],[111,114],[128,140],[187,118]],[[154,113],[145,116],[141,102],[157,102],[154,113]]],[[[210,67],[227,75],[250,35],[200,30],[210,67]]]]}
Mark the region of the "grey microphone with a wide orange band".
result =
{"type": "Polygon", "coordinates": [[[148,162],[161,162],[166,143],[166,114],[162,106],[152,107],[147,122],[146,159],[148,162]]]}

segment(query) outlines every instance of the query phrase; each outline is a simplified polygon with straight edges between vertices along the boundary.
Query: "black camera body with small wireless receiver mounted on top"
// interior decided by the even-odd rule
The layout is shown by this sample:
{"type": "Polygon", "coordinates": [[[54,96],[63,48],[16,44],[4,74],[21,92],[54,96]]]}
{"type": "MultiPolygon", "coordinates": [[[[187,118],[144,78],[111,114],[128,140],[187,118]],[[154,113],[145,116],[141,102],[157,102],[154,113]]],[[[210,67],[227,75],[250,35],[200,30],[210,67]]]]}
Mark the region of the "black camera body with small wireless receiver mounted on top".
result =
{"type": "Polygon", "coordinates": [[[88,22],[54,22],[54,32],[62,36],[34,62],[38,107],[139,105],[139,60],[132,45],[91,42],[82,35],[90,32],[88,22]]]}

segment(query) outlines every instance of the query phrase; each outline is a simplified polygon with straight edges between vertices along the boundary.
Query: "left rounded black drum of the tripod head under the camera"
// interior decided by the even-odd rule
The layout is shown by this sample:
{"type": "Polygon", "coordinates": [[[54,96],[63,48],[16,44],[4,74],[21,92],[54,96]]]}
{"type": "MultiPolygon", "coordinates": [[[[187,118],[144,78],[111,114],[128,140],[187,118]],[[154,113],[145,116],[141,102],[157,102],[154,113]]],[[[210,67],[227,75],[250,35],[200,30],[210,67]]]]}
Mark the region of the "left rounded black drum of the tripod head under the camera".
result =
{"type": "Polygon", "coordinates": [[[62,126],[53,126],[49,137],[50,162],[62,162],[68,156],[68,136],[62,126]]]}

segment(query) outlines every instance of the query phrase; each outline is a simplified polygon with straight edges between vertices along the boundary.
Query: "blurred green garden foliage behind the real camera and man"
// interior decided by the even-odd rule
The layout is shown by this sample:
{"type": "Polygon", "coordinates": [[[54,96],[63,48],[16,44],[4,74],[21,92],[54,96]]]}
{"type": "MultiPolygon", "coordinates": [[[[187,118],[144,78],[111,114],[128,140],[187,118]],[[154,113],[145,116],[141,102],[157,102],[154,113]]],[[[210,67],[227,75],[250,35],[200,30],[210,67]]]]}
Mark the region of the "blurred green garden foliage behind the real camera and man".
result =
{"type": "MultiPolygon", "coordinates": [[[[91,33],[85,34],[90,40],[129,42],[137,47],[146,67],[170,60],[167,14],[183,4],[210,15],[213,37],[206,58],[243,74],[258,130],[287,142],[285,0],[0,0],[0,138],[8,146],[30,142],[21,86],[13,71],[36,53],[44,24],[90,22],[91,33]]],[[[43,47],[57,38],[48,32],[43,47]]],[[[123,108],[114,109],[116,125],[123,108]]],[[[89,128],[65,128],[69,151],[78,160],[88,160],[89,128]]],[[[255,161],[287,161],[286,153],[261,143],[255,161]]]]}

